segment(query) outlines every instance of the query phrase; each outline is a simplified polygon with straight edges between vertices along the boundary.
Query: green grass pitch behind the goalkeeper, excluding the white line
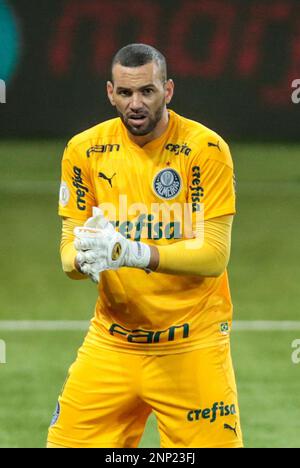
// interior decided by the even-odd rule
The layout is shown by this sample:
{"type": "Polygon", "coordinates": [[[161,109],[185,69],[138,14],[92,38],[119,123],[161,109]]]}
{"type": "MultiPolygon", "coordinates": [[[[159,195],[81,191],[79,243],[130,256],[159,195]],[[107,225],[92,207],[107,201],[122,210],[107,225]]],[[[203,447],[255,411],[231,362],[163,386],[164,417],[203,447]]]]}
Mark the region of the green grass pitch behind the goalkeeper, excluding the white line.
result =
{"type": "MultiPolygon", "coordinates": [[[[95,286],[61,271],[57,217],[62,141],[0,143],[0,320],[89,320],[95,286]]],[[[229,267],[237,320],[299,320],[300,146],[233,144],[238,214],[229,267]]],[[[1,331],[0,447],[43,447],[83,332],[1,331]]],[[[300,447],[300,331],[235,331],[247,447],[300,447]]],[[[142,447],[159,446],[150,418],[142,447]]]]}

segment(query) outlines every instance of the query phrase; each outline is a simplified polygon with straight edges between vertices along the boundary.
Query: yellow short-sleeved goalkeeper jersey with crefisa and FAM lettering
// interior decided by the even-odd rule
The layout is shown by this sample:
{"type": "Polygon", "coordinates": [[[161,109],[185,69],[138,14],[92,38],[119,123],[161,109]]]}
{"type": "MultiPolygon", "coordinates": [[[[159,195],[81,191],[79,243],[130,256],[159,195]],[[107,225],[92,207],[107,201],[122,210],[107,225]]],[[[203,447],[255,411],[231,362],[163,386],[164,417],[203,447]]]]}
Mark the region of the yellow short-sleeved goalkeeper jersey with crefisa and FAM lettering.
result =
{"type": "MultiPolygon", "coordinates": [[[[169,111],[167,130],[143,148],[119,118],[67,145],[59,214],[86,220],[99,206],[125,237],[151,245],[191,238],[195,220],[235,213],[228,145],[198,122],[169,111]]],[[[92,322],[99,346],[171,354],[228,341],[232,302],[218,278],[135,268],[101,274],[92,322]]]]}

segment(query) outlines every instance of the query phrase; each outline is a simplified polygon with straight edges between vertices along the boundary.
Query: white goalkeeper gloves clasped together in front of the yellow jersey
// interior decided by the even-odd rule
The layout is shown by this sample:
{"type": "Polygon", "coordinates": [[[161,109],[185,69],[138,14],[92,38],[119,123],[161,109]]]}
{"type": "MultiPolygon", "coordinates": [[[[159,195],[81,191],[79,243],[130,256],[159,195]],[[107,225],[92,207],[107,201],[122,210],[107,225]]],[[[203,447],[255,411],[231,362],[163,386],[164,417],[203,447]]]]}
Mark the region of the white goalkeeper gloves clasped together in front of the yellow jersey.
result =
{"type": "Polygon", "coordinates": [[[76,227],[76,262],[82,273],[98,283],[99,274],[123,266],[146,269],[151,250],[147,244],[125,239],[104,217],[102,210],[93,208],[93,217],[84,226],[76,227]]]}

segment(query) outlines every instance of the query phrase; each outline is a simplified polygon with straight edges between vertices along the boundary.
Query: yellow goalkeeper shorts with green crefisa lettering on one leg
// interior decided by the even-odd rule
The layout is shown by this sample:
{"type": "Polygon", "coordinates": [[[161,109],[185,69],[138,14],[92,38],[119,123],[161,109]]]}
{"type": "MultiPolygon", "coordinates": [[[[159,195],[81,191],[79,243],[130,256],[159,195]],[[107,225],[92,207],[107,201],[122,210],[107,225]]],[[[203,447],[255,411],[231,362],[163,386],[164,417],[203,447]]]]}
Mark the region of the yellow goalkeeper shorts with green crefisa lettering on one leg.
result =
{"type": "Polygon", "coordinates": [[[163,448],[243,446],[229,344],[141,356],[100,348],[89,335],[59,398],[49,445],[137,447],[153,411],[163,448]]]}

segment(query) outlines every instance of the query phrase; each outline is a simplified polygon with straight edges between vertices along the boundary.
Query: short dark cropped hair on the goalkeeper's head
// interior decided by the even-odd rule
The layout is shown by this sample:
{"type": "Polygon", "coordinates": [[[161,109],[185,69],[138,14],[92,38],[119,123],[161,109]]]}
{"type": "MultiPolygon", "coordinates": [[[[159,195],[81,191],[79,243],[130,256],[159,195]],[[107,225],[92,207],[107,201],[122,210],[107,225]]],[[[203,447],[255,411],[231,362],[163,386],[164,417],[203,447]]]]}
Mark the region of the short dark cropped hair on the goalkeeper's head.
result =
{"type": "Polygon", "coordinates": [[[119,63],[123,67],[141,67],[155,62],[161,70],[161,79],[167,81],[167,62],[161,52],[146,44],[129,44],[120,49],[113,58],[112,69],[119,63]]]}

